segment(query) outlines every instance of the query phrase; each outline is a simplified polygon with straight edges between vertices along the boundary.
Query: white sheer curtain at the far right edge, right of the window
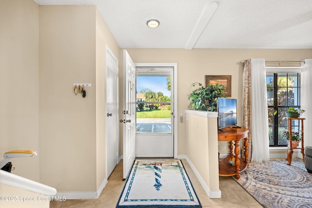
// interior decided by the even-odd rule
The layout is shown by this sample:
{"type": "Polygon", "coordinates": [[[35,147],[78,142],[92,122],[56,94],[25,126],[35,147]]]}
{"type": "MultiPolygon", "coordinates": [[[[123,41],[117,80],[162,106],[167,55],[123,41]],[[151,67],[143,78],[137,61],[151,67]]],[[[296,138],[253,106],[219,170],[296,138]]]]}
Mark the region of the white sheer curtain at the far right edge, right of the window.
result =
{"type": "MultiPolygon", "coordinates": [[[[312,59],[305,59],[301,68],[301,109],[306,112],[304,124],[304,146],[312,146],[312,59]]],[[[298,154],[299,155],[299,154],[298,154]]],[[[301,155],[301,153],[300,153],[301,155]]]]}

